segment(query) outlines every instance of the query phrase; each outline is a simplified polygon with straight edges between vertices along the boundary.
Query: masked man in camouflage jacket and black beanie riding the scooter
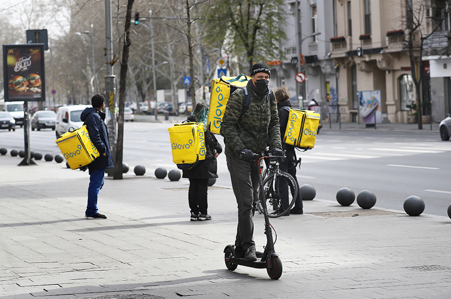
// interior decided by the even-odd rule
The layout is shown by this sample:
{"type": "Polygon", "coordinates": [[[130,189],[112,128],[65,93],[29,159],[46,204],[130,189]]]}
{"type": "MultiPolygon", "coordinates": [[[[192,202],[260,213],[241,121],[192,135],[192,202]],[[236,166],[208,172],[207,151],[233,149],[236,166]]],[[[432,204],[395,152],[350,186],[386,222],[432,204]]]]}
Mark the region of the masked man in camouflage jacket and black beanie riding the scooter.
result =
{"type": "Polygon", "coordinates": [[[252,65],[246,89],[249,107],[243,113],[245,91],[236,89],[229,97],[224,112],[221,132],[226,146],[227,168],[233,193],[238,204],[238,227],[235,238],[235,258],[256,261],[262,253],[255,251],[253,215],[259,200],[259,165],[254,153],[266,149],[269,138],[270,152],[282,155],[279,118],[275,98],[268,89],[271,69],[264,62],[252,65]]]}

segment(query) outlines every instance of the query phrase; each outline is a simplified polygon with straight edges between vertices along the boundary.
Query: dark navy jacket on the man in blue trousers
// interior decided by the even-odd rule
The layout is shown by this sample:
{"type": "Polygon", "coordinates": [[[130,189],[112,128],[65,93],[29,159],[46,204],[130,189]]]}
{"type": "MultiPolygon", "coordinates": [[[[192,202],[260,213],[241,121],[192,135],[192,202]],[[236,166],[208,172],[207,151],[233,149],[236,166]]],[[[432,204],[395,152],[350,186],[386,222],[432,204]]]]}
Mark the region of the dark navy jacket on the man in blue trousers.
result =
{"type": "Polygon", "coordinates": [[[108,142],[108,128],[105,125],[105,113],[98,111],[94,107],[83,110],[80,119],[84,122],[88,129],[89,138],[94,146],[99,150],[100,156],[88,165],[89,174],[93,171],[105,168],[113,168],[113,159],[110,152],[110,144],[108,142]],[[106,153],[103,156],[102,153],[106,153]]]}

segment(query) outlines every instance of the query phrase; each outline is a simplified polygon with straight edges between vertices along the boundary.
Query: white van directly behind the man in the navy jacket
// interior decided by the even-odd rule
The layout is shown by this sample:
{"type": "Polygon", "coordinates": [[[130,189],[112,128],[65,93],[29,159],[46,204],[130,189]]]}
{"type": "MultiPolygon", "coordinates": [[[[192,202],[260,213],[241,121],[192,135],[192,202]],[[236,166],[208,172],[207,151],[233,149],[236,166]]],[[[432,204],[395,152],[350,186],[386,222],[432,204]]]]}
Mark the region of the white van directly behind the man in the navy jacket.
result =
{"type": "Polygon", "coordinates": [[[73,105],[62,106],[58,108],[56,112],[56,124],[55,132],[56,139],[60,138],[69,129],[77,129],[83,126],[83,122],[80,119],[80,115],[85,108],[92,107],[91,105],[73,105]]]}

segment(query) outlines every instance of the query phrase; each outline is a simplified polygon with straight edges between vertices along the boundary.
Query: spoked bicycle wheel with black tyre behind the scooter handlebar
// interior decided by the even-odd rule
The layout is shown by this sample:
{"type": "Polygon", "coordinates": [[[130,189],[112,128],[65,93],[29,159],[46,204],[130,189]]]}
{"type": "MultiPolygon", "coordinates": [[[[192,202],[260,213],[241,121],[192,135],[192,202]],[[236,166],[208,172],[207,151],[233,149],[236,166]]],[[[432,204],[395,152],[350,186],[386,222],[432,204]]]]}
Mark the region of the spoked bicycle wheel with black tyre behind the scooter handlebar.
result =
{"type": "Polygon", "coordinates": [[[294,205],[297,197],[297,184],[287,172],[272,173],[263,181],[266,208],[270,218],[285,215],[294,205]]]}

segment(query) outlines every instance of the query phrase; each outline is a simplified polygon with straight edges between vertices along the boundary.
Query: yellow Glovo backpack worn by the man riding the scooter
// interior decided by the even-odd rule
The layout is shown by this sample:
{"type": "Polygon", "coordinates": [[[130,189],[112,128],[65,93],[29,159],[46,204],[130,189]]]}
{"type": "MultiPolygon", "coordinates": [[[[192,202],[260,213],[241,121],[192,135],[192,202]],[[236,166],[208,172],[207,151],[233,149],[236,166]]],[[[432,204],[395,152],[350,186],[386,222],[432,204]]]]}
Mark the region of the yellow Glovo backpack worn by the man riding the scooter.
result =
{"type": "Polygon", "coordinates": [[[237,89],[245,87],[250,77],[240,74],[237,77],[222,76],[212,80],[212,92],[210,94],[210,109],[207,119],[207,129],[220,134],[221,123],[223,121],[224,111],[228,97],[237,89]]]}

